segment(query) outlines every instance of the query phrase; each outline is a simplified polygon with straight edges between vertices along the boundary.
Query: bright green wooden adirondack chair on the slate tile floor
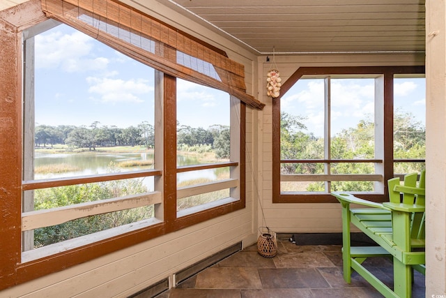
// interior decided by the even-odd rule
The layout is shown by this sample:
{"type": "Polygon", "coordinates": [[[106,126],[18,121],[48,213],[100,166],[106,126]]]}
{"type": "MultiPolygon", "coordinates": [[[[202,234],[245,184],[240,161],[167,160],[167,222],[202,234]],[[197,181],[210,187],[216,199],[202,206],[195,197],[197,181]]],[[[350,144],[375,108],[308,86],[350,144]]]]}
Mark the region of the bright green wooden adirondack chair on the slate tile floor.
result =
{"type": "Polygon", "coordinates": [[[399,178],[390,179],[387,182],[389,202],[383,204],[342,191],[332,193],[342,205],[342,259],[347,283],[351,283],[353,269],[385,297],[412,297],[413,269],[425,274],[425,174],[423,170],[418,183],[417,173],[407,174],[403,185],[399,178]],[[351,204],[367,208],[351,207],[351,204]],[[378,246],[351,246],[351,224],[378,246]],[[392,258],[393,290],[362,266],[364,260],[376,256],[392,258]]]}

